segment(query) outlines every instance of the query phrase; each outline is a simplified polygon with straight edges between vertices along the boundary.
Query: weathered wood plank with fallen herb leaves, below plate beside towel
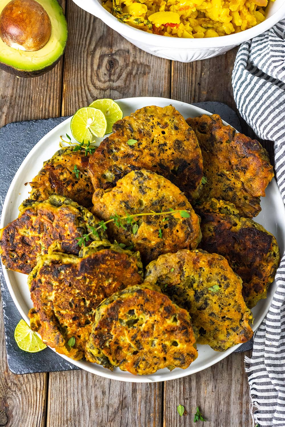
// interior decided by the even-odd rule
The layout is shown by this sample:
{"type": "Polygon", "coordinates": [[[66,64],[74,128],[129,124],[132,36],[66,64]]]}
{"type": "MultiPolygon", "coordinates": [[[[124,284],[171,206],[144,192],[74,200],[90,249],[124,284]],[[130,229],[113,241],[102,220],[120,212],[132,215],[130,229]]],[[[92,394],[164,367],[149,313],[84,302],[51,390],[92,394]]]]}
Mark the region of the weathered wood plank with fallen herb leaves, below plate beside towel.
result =
{"type": "Polygon", "coordinates": [[[216,365],[180,380],[165,383],[163,427],[250,427],[249,386],[244,371],[244,356],[234,353],[216,365]],[[177,412],[177,405],[185,407],[186,415],[177,412]],[[195,424],[196,407],[203,418],[195,424]]]}

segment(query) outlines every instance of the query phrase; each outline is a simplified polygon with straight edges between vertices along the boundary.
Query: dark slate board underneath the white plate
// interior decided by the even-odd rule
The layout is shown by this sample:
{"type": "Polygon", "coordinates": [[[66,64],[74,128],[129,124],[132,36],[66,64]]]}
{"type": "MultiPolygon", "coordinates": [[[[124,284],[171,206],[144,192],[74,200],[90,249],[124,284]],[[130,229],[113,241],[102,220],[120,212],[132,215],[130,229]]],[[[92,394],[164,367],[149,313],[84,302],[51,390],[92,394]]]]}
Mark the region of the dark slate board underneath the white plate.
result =
{"type": "MultiPolygon", "coordinates": [[[[199,102],[194,105],[212,113],[220,114],[223,120],[231,124],[235,129],[241,129],[237,115],[227,105],[221,102],[199,102]]],[[[26,155],[47,132],[66,118],[57,117],[9,123],[0,129],[0,170],[5,170],[5,180],[0,181],[0,214],[2,213],[3,202],[11,181],[26,155]],[[13,146],[14,149],[9,151],[6,149],[7,146],[13,146]]],[[[0,271],[0,281],[9,369],[14,374],[79,369],[55,354],[50,348],[32,354],[18,348],[14,339],[14,330],[21,319],[21,315],[9,294],[2,270],[0,271]]],[[[241,345],[237,351],[247,351],[251,348],[252,341],[241,345]]]]}

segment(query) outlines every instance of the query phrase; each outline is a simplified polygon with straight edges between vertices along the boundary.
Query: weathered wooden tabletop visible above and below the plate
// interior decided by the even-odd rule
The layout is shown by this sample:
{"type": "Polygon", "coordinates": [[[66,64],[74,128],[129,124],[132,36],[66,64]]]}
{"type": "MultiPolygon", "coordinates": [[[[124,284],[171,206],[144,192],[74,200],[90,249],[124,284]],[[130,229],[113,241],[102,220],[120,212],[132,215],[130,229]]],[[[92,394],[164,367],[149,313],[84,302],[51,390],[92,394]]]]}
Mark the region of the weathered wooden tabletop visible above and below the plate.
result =
{"type": "MultiPolygon", "coordinates": [[[[0,71],[0,126],[71,115],[97,98],[220,101],[236,110],[231,86],[236,49],[191,64],[171,62],[139,50],[71,0],[62,6],[69,26],[63,60],[34,79],[0,71]]],[[[244,356],[235,353],[197,374],[153,384],[123,383],[85,371],[15,375],[6,362],[1,313],[0,426],[250,427],[244,356]],[[187,412],[182,417],[179,404],[187,412]],[[206,423],[194,424],[197,406],[206,423]]]]}

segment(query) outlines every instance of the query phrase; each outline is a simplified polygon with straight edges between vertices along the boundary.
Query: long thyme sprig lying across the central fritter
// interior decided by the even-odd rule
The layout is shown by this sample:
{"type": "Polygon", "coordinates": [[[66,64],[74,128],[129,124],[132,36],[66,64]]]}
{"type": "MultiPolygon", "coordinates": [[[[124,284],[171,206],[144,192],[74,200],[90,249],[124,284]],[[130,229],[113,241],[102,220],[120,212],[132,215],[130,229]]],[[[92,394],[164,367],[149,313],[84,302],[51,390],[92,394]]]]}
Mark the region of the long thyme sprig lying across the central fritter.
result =
{"type": "MultiPolygon", "coordinates": [[[[82,237],[76,237],[76,240],[78,240],[77,245],[79,246],[86,246],[86,242],[89,242],[89,236],[93,234],[97,238],[99,238],[98,231],[100,229],[106,230],[107,224],[110,224],[111,222],[114,222],[114,224],[118,228],[123,228],[123,230],[126,230],[126,226],[123,224],[123,222],[126,222],[126,224],[132,226],[132,234],[136,234],[139,228],[139,225],[137,223],[138,217],[140,216],[162,216],[162,215],[175,215],[176,213],[179,213],[181,218],[189,218],[190,217],[190,211],[182,211],[177,209],[174,211],[170,208],[167,212],[143,212],[143,213],[133,213],[132,215],[129,215],[126,213],[125,216],[120,216],[117,213],[110,216],[110,219],[108,221],[99,221],[97,227],[89,226],[89,229],[91,230],[89,233],[83,234],[82,237]]],[[[169,218],[167,218],[168,220],[169,218]]],[[[159,238],[162,238],[162,229],[159,228],[159,238]]]]}

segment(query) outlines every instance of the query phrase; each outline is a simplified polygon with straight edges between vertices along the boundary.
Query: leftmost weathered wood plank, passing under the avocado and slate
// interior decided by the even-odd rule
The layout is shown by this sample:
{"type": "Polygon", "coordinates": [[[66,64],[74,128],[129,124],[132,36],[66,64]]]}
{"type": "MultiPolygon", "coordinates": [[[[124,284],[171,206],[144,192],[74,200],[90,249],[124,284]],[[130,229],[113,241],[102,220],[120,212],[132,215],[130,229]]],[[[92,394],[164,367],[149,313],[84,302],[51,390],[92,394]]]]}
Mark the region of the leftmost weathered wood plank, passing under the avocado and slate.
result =
{"type": "MultiPolygon", "coordinates": [[[[34,79],[17,78],[0,71],[0,126],[12,121],[59,116],[62,67],[60,61],[49,73],[34,79]]],[[[17,149],[17,141],[13,149],[17,149]]],[[[9,371],[1,309],[0,425],[44,427],[47,378],[48,374],[15,375],[9,371]]]]}

